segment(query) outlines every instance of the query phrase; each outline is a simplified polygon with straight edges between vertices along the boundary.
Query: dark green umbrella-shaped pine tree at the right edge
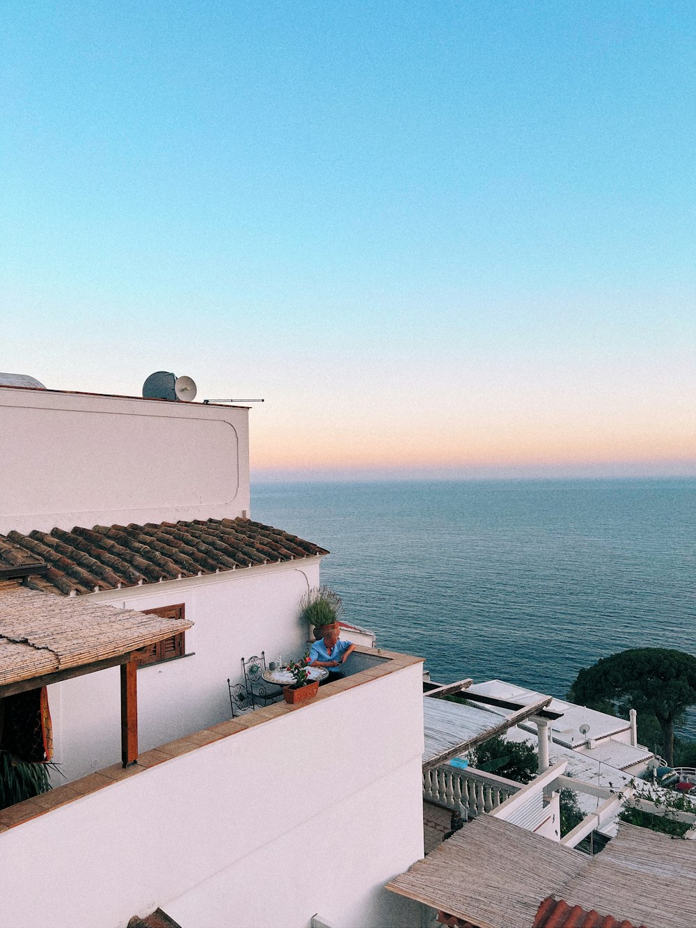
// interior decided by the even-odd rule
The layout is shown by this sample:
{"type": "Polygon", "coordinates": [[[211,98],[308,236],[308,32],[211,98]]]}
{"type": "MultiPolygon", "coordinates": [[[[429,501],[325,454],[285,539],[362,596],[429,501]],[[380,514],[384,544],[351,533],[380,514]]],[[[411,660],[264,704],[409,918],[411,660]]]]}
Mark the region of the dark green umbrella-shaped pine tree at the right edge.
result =
{"type": "MultiPolygon", "coordinates": [[[[696,657],[666,648],[632,648],[581,670],[568,699],[599,711],[632,706],[652,715],[662,732],[664,758],[674,764],[675,723],[696,704],[696,657]]],[[[650,746],[650,745],[649,745],[650,746]]]]}

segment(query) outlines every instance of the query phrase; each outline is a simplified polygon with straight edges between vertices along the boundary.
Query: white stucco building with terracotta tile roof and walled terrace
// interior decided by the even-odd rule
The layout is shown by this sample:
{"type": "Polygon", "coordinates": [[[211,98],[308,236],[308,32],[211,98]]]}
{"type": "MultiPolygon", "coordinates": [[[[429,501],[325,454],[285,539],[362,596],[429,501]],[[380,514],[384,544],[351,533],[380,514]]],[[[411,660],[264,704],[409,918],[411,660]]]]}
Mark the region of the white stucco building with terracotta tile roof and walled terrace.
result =
{"type": "Polygon", "coordinates": [[[230,719],[244,657],[305,650],[327,553],[250,521],[248,410],[0,387],[0,428],[0,561],[45,564],[22,586],[117,607],[115,629],[123,609],[183,620],[154,663],[113,658],[137,686],[129,767],[124,671],[65,678],[55,652],[66,779],[0,811],[0,925],[419,925],[383,885],[423,854],[421,661],[360,646],[313,701],[230,719]]]}

